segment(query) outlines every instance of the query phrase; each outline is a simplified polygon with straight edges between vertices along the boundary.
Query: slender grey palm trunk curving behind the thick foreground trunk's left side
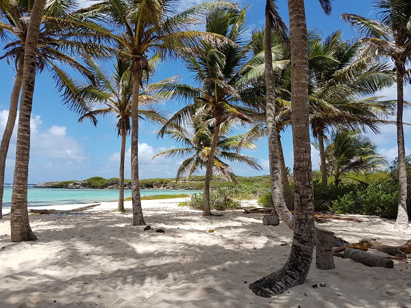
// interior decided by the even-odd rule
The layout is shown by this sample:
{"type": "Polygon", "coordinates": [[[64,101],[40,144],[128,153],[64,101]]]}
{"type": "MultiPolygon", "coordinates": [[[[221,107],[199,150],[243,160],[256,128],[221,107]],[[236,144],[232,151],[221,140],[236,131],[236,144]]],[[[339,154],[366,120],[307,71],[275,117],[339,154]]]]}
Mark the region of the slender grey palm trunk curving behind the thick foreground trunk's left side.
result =
{"type": "Polygon", "coordinates": [[[273,57],[271,55],[272,25],[266,14],[266,26],[264,35],[264,60],[266,81],[266,123],[269,140],[269,168],[271,180],[271,196],[279,218],[292,229],[292,214],[288,211],[284,202],[282,190],[281,171],[279,166],[279,151],[277,144],[277,125],[275,123],[275,77],[273,72],[273,57]]]}

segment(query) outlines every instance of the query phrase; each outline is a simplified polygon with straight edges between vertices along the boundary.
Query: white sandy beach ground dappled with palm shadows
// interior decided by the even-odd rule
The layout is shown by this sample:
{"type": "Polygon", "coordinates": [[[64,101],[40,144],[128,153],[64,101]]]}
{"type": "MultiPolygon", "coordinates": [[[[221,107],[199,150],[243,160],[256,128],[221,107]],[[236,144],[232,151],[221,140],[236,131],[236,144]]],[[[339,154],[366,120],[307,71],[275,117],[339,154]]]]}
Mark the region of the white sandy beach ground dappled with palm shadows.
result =
{"type": "MultiPolygon", "coordinates": [[[[264,227],[261,214],[240,210],[206,218],[177,207],[180,200],[143,201],[151,231],[133,227],[130,213],[113,211],[116,203],[80,214],[33,215],[36,242],[11,243],[6,216],[0,220],[0,307],[411,307],[410,261],[387,269],[335,257],[334,270],[318,270],[314,257],[305,283],[274,298],[256,296],[249,283],[282,267],[292,232],[282,222],[264,227]],[[165,233],[155,232],[160,228],[165,233]],[[321,282],[326,286],[311,286],[321,282]]],[[[358,218],[318,227],[349,242],[411,239],[411,231],[393,231],[393,220],[358,218]]]]}

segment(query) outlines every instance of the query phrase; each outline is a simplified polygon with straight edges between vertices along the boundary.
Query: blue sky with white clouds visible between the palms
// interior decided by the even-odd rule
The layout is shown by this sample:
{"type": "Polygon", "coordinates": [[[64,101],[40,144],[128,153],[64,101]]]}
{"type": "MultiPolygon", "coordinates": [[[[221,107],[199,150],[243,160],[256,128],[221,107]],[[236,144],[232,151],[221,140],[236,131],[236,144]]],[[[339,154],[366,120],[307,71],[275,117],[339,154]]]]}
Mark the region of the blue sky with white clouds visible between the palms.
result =
{"type": "MultiPolygon", "coordinates": [[[[197,3],[206,2],[202,0],[182,1],[185,7],[197,3]]],[[[260,29],[264,25],[265,0],[241,0],[240,6],[247,9],[250,33],[253,29],[260,29]]],[[[331,16],[326,16],[319,2],[316,0],[306,1],[306,14],[308,27],[316,28],[324,36],[336,29],[343,30],[345,39],[353,38],[356,33],[347,23],[340,20],[340,14],[351,13],[375,18],[370,0],[345,0],[334,1],[331,16]]],[[[277,1],[279,12],[288,21],[288,10],[286,1],[277,1]]],[[[1,47],[1,45],[0,45],[1,47]]],[[[1,55],[1,51],[0,51],[1,55]]],[[[112,67],[112,64],[107,64],[112,67]]],[[[14,66],[7,64],[5,60],[0,62],[0,132],[4,131],[8,116],[8,105],[10,93],[14,83],[14,66]]],[[[155,80],[164,79],[172,75],[182,75],[184,83],[190,83],[190,73],[184,70],[179,62],[160,64],[155,80]]],[[[379,93],[387,99],[395,99],[395,88],[384,90],[379,93]]],[[[405,99],[411,101],[411,87],[405,89],[405,99]]],[[[183,107],[184,103],[166,103],[164,108],[176,110],[183,107]]],[[[121,140],[117,138],[115,123],[116,118],[108,116],[100,118],[97,127],[89,122],[78,123],[77,114],[67,109],[62,104],[60,94],[55,90],[55,83],[47,71],[39,74],[36,79],[36,90],[34,92],[32,110],[32,145],[29,165],[29,183],[42,181],[64,181],[71,179],[88,179],[89,177],[101,176],[105,178],[119,177],[119,152],[121,140]]],[[[410,122],[411,110],[404,111],[404,121],[410,122]]],[[[171,149],[174,144],[170,140],[157,139],[153,127],[144,121],[140,122],[139,134],[139,159],[140,178],[174,177],[180,159],[151,159],[153,155],[171,149]]],[[[411,127],[405,126],[407,154],[410,152],[411,127]]],[[[377,151],[384,155],[388,162],[397,156],[396,128],[395,125],[382,127],[382,133],[375,135],[369,133],[369,138],[377,144],[377,151]]],[[[286,165],[292,166],[292,139],[290,131],[283,136],[284,156],[286,165]]],[[[247,152],[260,159],[264,170],[257,172],[245,166],[233,166],[237,175],[267,175],[269,174],[269,162],[266,139],[258,142],[259,149],[247,152]]],[[[12,183],[14,172],[14,157],[16,151],[16,129],[10,144],[5,171],[5,183],[12,183]]],[[[129,143],[127,144],[125,176],[130,177],[129,166],[129,143]]],[[[314,169],[319,168],[319,155],[312,149],[312,165],[314,169]]]]}

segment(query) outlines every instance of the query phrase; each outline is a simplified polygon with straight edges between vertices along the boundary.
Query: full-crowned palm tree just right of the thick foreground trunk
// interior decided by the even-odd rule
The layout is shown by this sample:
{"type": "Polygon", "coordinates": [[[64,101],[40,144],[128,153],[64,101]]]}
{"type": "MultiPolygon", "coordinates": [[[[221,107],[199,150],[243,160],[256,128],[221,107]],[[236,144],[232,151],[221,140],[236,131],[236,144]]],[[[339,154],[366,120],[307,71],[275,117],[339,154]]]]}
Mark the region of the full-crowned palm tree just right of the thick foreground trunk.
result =
{"type": "Polygon", "coordinates": [[[328,53],[331,60],[325,68],[310,68],[310,124],[313,136],[318,138],[323,190],[327,190],[325,132],[338,127],[378,133],[382,117],[390,114],[392,107],[379,97],[366,97],[393,84],[390,66],[375,63],[359,40],[343,41],[341,34],[334,31],[310,45],[311,53],[328,53]]]}

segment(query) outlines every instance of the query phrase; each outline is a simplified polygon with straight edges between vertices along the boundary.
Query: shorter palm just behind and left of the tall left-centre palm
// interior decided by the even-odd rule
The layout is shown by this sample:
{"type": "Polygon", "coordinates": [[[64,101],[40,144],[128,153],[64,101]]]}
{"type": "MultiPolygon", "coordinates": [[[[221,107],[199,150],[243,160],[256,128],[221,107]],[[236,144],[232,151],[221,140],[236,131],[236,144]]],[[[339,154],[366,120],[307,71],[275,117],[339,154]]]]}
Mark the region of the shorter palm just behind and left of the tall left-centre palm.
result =
{"type": "MultiPolygon", "coordinates": [[[[86,58],[87,59],[87,58],[86,58]]],[[[120,153],[120,169],[119,169],[119,211],[124,211],[124,163],[125,163],[125,146],[126,139],[131,129],[130,117],[132,116],[131,104],[132,104],[132,86],[133,79],[130,76],[131,61],[124,61],[117,59],[114,74],[109,77],[104,70],[102,70],[95,62],[87,59],[90,66],[90,71],[95,75],[98,81],[98,86],[78,86],[75,88],[75,92],[71,94],[71,100],[73,101],[86,101],[84,104],[88,105],[104,105],[97,109],[93,109],[90,112],[82,114],[79,118],[79,122],[88,118],[92,123],[97,125],[97,116],[105,116],[107,114],[113,114],[117,121],[116,129],[117,136],[121,136],[121,153],[120,153]]],[[[167,84],[171,81],[175,81],[175,78],[159,81],[157,86],[167,84]]],[[[140,118],[144,116],[147,120],[153,123],[164,124],[166,118],[153,107],[154,104],[159,103],[166,97],[160,97],[160,95],[151,94],[147,91],[151,87],[156,85],[149,85],[144,92],[140,92],[140,105],[148,106],[147,109],[138,110],[140,118]]]]}

